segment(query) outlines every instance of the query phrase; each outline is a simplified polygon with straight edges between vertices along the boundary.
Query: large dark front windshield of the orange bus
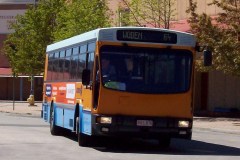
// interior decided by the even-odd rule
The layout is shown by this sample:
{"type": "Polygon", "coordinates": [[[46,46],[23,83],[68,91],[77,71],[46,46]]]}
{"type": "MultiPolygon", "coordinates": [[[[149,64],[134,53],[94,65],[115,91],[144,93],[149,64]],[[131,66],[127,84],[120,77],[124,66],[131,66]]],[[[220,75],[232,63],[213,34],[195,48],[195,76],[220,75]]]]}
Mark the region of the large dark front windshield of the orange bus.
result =
{"type": "Polygon", "coordinates": [[[190,88],[192,53],[189,50],[103,46],[101,80],[109,89],[160,94],[190,88]]]}

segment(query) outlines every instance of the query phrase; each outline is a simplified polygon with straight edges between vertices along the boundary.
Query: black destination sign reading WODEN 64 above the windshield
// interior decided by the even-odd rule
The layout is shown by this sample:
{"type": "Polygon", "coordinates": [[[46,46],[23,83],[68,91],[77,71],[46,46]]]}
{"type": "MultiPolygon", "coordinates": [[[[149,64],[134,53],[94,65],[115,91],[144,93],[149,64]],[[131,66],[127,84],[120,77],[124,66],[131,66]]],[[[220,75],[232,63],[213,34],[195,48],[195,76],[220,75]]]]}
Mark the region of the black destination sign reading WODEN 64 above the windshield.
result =
{"type": "Polygon", "coordinates": [[[149,30],[118,30],[117,40],[176,44],[177,34],[149,30]]]}

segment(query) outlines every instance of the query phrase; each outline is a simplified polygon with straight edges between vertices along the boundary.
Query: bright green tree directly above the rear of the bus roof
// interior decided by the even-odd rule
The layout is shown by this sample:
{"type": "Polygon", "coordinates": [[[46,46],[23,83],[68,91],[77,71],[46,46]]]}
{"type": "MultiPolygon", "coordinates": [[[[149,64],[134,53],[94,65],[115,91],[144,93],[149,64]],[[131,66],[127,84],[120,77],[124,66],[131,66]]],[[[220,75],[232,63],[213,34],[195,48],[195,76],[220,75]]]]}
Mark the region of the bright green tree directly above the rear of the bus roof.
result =
{"type": "Polygon", "coordinates": [[[106,0],[72,0],[57,17],[56,41],[96,28],[110,26],[111,12],[106,0]]]}

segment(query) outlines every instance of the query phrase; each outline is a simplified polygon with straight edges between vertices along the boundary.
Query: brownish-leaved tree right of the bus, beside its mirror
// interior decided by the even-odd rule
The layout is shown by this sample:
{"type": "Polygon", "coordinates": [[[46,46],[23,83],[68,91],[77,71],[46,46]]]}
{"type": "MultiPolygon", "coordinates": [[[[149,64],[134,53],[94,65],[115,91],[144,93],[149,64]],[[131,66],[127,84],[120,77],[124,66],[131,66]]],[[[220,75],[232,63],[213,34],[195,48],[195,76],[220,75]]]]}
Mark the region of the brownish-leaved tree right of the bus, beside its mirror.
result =
{"type": "MultiPolygon", "coordinates": [[[[197,3],[189,0],[189,4],[192,33],[213,51],[212,69],[240,76],[240,0],[213,0],[209,5],[223,10],[217,17],[197,14],[197,3]]],[[[206,69],[200,62],[197,64],[199,70],[206,69]]]]}

